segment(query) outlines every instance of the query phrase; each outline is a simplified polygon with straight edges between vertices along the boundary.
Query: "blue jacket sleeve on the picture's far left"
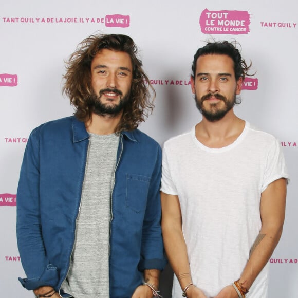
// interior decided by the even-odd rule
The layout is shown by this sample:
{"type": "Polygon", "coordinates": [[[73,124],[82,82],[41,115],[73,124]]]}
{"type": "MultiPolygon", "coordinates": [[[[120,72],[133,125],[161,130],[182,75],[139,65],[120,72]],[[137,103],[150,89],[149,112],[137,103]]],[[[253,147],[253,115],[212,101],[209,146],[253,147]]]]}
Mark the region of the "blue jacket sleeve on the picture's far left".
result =
{"type": "MultiPolygon", "coordinates": [[[[17,187],[16,237],[27,282],[36,284],[30,290],[41,286],[41,275],[49,264],[44,247],[40,216],[40,178],[38,148],[35,134],[29,137],[17,187]]],[[[23,286],[25,286],[23,284],[23,286]]],[[[27,288],[27,286],[26,286],[27,288]]]]}

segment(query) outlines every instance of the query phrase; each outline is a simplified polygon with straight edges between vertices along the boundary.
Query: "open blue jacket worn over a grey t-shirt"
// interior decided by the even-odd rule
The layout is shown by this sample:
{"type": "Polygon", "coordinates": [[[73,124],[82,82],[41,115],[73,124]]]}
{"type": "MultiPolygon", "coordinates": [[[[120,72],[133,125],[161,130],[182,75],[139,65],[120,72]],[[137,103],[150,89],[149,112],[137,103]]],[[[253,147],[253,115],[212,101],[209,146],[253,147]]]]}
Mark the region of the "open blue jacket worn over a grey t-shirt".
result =
{"type": "MultiPolygon", "coordinates": [[[[28,290],[61,290],[76,233],[89,135],[74,116],[35,128],[17,189],[17,244],[28,290]]],[[[131,297],[144,269],[162,270],[161,149],[135,129],[123,132],[111,195],[110,297],[131,297]]],[[[62,294],[67,297],[67,295],[62,294]]]]}

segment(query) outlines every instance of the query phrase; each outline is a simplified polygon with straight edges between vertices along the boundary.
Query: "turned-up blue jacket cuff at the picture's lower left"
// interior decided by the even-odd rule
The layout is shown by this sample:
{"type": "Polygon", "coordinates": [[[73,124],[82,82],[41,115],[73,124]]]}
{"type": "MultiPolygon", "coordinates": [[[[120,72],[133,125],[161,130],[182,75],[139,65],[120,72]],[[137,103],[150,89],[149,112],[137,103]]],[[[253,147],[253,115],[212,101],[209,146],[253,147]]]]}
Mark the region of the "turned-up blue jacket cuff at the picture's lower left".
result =
{"type": "Polygon", "coordinates": [[[42,286],[50,286],[53,288],[57,288],[59,283],[57,267],[52,265],[47,265],[46,269],[42,273],[40,277],[36,278],[21,278],[18,277],[18,280],[22,284],[24,288],[27,290],[34,290],[42,286]]]}

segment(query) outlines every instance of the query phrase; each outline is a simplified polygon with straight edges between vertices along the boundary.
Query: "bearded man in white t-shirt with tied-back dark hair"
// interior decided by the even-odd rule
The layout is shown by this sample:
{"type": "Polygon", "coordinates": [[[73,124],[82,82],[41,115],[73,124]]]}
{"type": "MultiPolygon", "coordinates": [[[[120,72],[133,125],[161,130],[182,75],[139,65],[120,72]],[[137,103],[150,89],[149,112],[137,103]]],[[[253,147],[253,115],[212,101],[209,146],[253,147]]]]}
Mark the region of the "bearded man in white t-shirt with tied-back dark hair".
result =
{"type": "Polygon", "coordinates": [[[202,121],[163,146],[162,232],[174,298],[268,295],[288,173],[278,140],[234,114],[249,68],[232,43],[199,48],[191,86],[202,121]]]}

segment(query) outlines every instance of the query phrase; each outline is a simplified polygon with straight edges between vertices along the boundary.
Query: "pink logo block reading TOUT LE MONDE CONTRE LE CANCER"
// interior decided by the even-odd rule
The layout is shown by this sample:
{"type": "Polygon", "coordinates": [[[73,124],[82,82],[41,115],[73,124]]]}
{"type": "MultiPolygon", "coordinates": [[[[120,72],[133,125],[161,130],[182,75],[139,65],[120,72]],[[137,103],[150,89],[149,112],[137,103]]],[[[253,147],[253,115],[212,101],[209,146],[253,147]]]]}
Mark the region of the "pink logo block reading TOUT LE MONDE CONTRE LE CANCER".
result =
{"type": "Polygon", "coordinates": [[[205,9],[200,16],[200,26],[205,34],[248,34],[250,15],[247,11],[205,9]]]}

